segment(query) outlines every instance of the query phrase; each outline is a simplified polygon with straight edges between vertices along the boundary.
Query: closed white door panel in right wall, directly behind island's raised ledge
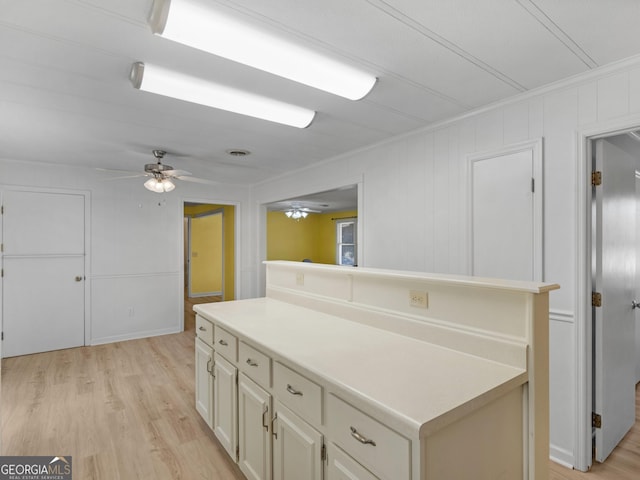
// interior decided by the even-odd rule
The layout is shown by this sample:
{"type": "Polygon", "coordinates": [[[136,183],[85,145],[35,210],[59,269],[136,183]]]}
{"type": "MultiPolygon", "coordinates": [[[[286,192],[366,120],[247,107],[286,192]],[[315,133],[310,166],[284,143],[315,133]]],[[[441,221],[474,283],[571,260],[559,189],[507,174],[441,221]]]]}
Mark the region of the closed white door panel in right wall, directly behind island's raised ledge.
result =
{"type": "Polygon", "coordinates": [[[471,159],[472,275],[542,280],[541,170],[535,145],[471,159]]]}

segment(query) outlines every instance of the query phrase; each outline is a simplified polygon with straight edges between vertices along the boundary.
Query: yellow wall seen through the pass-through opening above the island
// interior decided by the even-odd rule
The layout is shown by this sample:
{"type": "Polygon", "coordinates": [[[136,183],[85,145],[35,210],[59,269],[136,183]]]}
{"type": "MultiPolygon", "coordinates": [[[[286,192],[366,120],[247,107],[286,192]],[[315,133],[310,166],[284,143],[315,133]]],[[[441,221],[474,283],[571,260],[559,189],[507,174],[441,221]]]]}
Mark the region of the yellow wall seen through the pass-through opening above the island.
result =
{"type": "Polygon", "coordinates": [[[357,212],[310,213],[299,221],[284,212],[267,212],[267,260],[306,258],[315,263],[336,263],[336,226],[332,218],[353,217],[357,212]]]}

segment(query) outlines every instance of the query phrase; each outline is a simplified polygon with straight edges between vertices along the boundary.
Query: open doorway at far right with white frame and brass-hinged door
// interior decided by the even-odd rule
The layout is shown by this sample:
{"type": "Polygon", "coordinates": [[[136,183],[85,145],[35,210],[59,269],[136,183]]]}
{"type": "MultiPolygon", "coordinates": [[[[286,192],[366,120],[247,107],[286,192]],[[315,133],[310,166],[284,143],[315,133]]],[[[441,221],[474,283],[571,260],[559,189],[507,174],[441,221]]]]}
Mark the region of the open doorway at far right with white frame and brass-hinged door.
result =
{"type": "Polygon", "coordinates": [[[629,128],[584,132],[579,158],[578,245],[581,289],[576,333],[578,424],[575,467],[604,462],[635,422],[637,269],[636,218],[640,141],[629,128]]]}

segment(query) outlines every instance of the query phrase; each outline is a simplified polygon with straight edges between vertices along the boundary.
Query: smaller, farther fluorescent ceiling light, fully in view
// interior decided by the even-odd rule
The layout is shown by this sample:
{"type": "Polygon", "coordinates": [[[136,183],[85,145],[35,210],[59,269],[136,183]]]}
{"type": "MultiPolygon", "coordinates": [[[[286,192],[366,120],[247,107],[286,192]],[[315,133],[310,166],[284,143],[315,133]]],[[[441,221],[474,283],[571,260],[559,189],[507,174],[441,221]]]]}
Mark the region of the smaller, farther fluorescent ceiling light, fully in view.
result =
{"type": "Polygon", "coordinates": [[[308,127],[316,112],[235,88],[207,82],[148,63],[136,62],[131,83],[145,92],[249,115],[292,127],[308,127]]]}

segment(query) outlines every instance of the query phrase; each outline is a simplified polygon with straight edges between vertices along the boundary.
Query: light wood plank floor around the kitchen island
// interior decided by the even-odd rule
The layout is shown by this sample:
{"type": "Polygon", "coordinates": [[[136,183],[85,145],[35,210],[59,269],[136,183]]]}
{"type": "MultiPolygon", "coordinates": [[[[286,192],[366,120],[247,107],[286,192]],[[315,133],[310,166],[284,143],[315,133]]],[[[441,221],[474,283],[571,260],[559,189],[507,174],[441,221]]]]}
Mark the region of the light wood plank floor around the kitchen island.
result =
{"type": "MultiPolygon", "coordinates": [[[[175,335],[4,359],[2,455],[71,455],[74,478],[83,480],[244,480],[195,410],[190,325],[175,335]]],[[[582,473],[550,462],[549,479],[640,479],[636,419],[606,463],[582,473]]]]}

